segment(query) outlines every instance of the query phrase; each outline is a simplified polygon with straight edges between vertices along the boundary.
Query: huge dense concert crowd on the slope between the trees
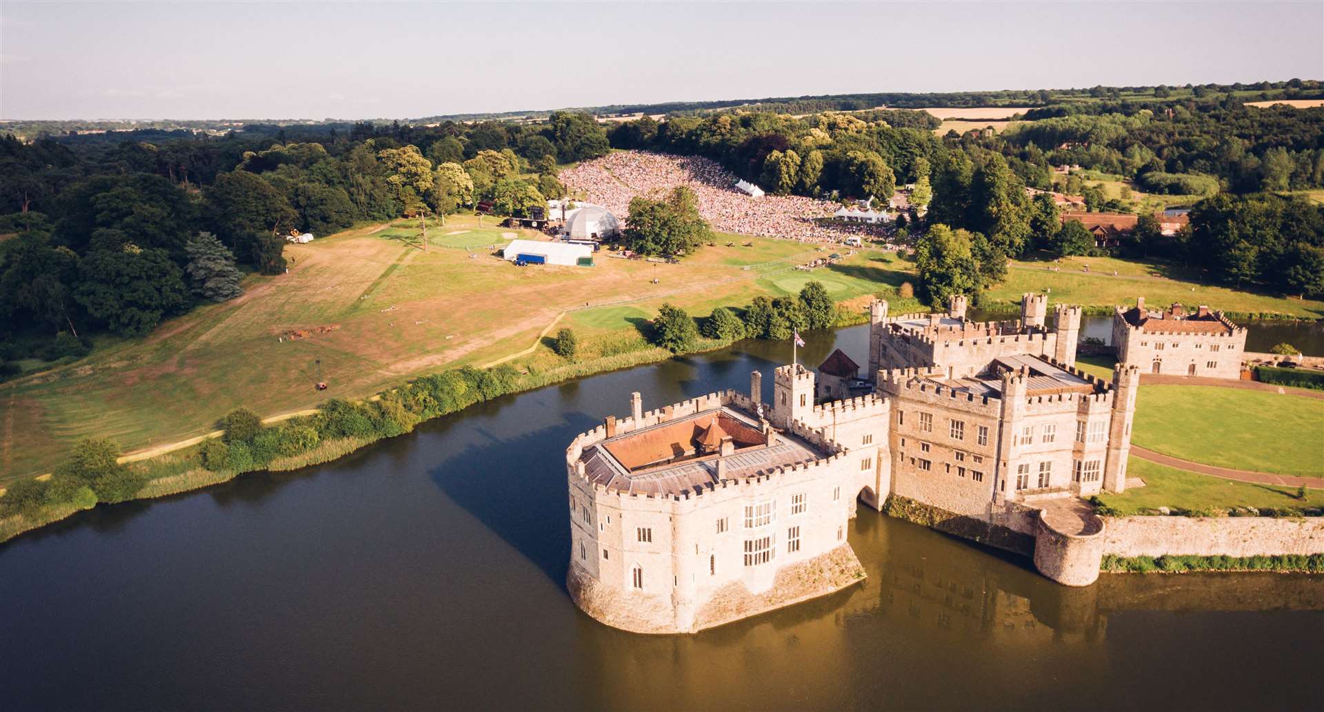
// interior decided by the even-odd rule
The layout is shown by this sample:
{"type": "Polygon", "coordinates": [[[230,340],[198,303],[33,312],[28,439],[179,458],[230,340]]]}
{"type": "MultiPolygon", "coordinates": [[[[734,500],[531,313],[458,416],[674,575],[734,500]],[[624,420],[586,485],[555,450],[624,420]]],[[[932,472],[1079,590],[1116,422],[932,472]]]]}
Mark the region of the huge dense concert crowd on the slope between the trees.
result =
{"type": "Polygon", "coordinates": [[[752,197],[736,189],[736,176],[702,156],[618,151],[563,171],[560,180],[575,195],[601,205],[622,221],[636,196],[661,197],[687,185],[699,214],[712,229],[808,242],[841,242],[849,236],[884,238],[886,225],[831,220],[839,205],[801,196],[752,197]]]}

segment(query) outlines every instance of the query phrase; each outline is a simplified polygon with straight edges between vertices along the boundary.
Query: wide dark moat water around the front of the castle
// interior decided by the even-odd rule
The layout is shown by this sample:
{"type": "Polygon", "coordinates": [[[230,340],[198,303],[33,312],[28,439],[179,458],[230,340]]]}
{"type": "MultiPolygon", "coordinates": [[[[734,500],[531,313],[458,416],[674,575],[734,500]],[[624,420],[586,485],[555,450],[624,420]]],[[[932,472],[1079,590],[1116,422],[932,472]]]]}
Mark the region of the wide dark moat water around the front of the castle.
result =
{"type": "MultiPolygon", "coordinates": [[[[809,336],[866,361],[867,327],[809,336]]],[[[788,344],[483,404],[343,461],[98,507],[0,547],[0,708],[1305,708],[1324,586],[1106,574],[861,508],[867,578],[687,637],[580,613],[565,443],[626,412],[747,388],[788,344]]]]}

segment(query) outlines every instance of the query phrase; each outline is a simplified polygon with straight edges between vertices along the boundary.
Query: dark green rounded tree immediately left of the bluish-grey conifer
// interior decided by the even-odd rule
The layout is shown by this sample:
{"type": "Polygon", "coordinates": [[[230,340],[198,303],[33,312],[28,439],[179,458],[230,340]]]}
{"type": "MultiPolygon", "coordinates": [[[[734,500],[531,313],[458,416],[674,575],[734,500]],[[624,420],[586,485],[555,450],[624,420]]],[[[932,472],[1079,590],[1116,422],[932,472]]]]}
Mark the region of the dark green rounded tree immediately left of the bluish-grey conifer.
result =
{"type": "Polygon", "coordinates": [[[78,261],[78,278],[74,300],[124,336],[146,335],[184,304],[183,273],[166,250],[95,250],[78,261]]]}

